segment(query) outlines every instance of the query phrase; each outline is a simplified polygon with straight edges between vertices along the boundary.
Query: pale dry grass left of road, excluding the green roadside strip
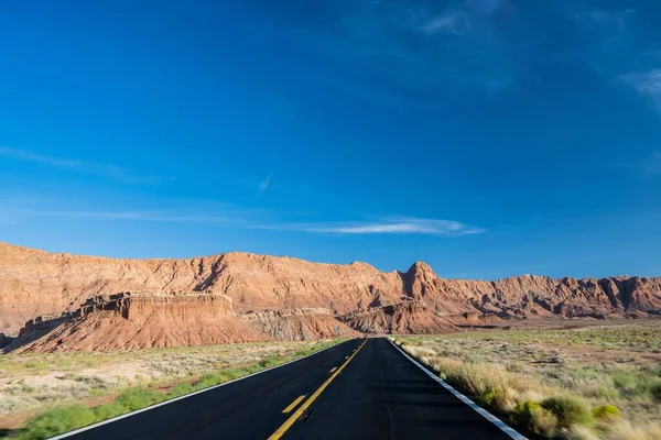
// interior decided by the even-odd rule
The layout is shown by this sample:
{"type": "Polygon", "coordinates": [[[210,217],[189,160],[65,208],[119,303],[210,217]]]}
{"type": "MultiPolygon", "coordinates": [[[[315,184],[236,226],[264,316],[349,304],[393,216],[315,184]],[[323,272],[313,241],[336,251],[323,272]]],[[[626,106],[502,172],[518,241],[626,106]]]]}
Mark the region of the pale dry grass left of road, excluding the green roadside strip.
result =
{"type": "Polygon", "coordinates": [[[0,355],[0,427],[15,428],[54,404],[105,402],[127,387],[194,380],[205,374],[305,354],[322,342],[242,343],[110,353],[0,355]]]}

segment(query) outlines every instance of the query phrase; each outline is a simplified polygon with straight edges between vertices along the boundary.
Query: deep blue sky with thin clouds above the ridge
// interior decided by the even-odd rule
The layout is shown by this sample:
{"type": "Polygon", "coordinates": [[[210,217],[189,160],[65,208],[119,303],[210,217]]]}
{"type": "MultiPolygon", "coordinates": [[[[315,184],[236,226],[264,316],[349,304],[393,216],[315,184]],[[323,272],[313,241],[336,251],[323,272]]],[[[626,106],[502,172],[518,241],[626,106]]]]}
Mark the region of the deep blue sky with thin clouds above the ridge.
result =
{"type": "Polygon", "coordinates": [[[661,275],[660,21],[655,0],[6,3],[0,241],[661,275]]]}

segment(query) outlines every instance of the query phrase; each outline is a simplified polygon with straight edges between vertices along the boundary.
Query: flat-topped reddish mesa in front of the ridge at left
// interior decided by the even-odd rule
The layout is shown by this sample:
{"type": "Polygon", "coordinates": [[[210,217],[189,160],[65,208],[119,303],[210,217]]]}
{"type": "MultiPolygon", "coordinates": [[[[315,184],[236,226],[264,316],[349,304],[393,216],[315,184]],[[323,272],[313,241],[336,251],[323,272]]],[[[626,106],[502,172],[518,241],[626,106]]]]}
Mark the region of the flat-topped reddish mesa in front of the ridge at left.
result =
{"type": "Polygon", "coordinates": [[[72,314],[28,321],[4,350],[109,351],[269,340],[239,320],[224,295],[119,294],[90,298],[72,314]]]}

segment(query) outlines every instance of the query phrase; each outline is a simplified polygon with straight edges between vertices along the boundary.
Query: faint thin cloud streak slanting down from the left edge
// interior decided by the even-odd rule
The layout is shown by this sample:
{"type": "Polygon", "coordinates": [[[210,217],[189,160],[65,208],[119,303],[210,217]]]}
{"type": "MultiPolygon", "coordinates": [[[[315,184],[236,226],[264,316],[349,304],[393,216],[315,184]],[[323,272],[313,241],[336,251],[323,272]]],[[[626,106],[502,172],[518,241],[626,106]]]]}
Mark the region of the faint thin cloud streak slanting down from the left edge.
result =
{"type": "Polygon", "coordinates": [[[127,184],[156,183],[162,179],[159,176],[139,174],[136,170],[115,164],[48,156],[7,146],[0,146],[0,156],[45,164],[57,168],[68,168],[77,173],[108,177],[127,184]]]}

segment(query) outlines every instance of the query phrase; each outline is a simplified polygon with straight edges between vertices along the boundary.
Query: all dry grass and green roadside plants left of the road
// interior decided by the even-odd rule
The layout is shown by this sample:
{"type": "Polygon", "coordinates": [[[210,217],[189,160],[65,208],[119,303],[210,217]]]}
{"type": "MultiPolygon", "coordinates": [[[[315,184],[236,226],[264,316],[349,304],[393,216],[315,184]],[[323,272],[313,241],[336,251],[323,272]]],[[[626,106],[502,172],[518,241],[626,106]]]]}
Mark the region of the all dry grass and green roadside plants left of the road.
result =
{"type": "Polygon", "coordinates": [[[0,356],[4,413],[0,437],[46,439],[277,366],[342,341],[0,356]],[[61,386],[62,381],[74,386],[61,386]],[[15,408],[23,411],[17,414],[15,408]]]}

